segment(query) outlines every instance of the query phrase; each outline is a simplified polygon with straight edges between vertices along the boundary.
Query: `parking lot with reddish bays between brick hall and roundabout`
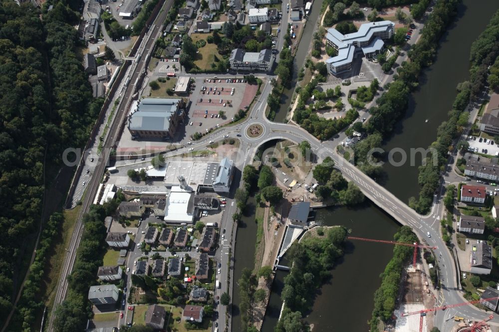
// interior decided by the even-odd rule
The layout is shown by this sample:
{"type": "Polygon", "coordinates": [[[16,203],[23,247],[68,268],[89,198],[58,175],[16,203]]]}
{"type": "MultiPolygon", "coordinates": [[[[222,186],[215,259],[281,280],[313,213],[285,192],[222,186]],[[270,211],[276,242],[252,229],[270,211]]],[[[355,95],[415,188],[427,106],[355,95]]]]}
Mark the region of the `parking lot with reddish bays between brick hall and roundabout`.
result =
{"type": "Polygon", "coordinates": [[[232,122],[240,109],[250,105],[258,89],[256,84],[230,83],[227,79],[210,79],[211,82],[208,80],[197,79],[191,94],[192,104],[185,135],[188,139],[196,132],[206,133],[210,128],[217,128],[217,125],[223,126],[232,122]],[[225,112],[223,117],[219,116],[220,111],[225,112]]]}

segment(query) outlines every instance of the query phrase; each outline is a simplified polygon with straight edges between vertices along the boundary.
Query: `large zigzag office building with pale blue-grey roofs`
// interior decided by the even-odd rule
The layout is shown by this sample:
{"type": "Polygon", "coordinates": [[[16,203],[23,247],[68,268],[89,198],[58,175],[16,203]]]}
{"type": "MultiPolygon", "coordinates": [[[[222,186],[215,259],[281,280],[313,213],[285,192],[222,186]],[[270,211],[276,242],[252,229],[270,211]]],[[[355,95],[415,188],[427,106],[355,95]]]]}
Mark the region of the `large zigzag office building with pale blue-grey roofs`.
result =
{"type": "Polygon", "coordinates": [[[387,20],[364,23],[357,32],[345,35],[336,29],[328,29],[326,43],[338,51],[338,55],[326,60],[328,71],[333,75],[349,71],[354,54],[359,51],[367,58],[374,58],[383,50],[383,40],[390,39],[394,29],[395,23],[387,20]]]}

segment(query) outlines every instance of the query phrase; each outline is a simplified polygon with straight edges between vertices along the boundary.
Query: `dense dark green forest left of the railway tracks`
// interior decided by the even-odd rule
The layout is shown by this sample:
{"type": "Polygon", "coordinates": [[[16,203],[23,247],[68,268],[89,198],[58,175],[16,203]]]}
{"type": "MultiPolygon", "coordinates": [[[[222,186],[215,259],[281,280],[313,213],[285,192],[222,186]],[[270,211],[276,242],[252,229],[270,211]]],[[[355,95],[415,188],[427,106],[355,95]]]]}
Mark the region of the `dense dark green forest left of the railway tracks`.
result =
{"type": "MultiPolygon", "coordinates": [[[[102,103],[93,101],[76,57],[78,15],[66,2],[50,4],[50,11],[8,0],[0,5],[0,198],[8,207],[0,212],[0,322],[11,310],[31,257],[45,182],[60,168],[65,148],[86,142],[102,103]]],[[[60,223],[60,216],[51,220],[46,229],[60,223]]],[[[42,235],[39,248],[52,233],[42,235]]],[[[42,274],[39,268],[31,270],[42,274]]],[[[23,291],[10,331],[29,331],[37,305],[30,292],[34,286],[23,291]]]]}

